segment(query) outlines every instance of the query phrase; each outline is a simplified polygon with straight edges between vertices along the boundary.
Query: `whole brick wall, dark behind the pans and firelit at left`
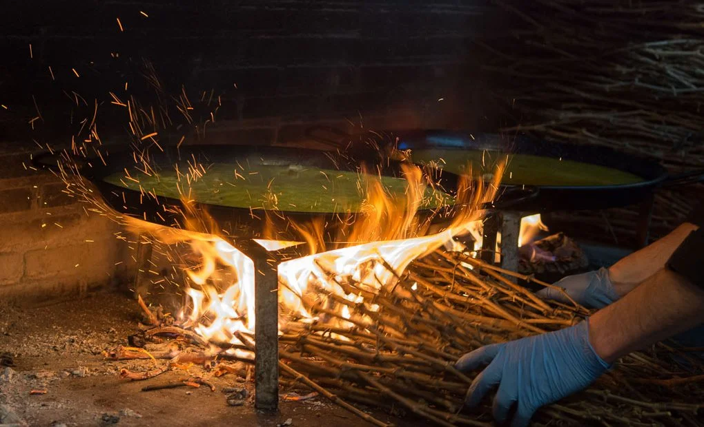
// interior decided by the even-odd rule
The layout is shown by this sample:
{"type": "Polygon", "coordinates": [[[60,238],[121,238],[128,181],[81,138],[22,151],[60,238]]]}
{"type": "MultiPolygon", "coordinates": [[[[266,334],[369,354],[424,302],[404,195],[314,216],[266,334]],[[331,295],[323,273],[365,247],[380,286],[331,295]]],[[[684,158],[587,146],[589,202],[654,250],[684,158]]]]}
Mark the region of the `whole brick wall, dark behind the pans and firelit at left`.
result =
{"type": "Polygon", "coordinates": [[[63,184],[22,162],[34,141],[68,142],[94,102],[103,139],[126,140],[125,110],[108,92],[153,94],[144,60],[167,93],[185,85],[191,100],[220,96],[208,125],[215,143],[301,143],[312,124],[478,129],[489,114],[478,98],[472,40],[494,29],[485,3],[6,1],[0,298],[71,294],[130,271],[115,267],[130,258],[113,236],[118,228],[87,216],[63,184]]]}

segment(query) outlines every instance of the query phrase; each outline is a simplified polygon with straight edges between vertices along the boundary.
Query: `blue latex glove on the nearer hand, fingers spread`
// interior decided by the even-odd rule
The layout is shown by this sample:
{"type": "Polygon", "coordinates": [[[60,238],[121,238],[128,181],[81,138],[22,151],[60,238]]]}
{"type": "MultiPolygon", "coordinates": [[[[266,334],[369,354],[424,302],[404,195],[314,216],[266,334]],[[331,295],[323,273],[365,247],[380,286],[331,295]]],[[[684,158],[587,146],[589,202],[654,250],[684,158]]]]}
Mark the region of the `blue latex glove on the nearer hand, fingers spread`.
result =
{"type": "Polygon", "coordinates": [[[498,386],[494,419],[498,424],[511,421],[511,427],[527,426],[539,407],[582,390],[609,368],[589,343],[587,322],[478,348],[460,357],[455,367],[469,372],[487,363],[472,382],[465,405],[479,405],[484,395],[498,386]],[[515,415],[508,420],[514,404],[515,415]]]}

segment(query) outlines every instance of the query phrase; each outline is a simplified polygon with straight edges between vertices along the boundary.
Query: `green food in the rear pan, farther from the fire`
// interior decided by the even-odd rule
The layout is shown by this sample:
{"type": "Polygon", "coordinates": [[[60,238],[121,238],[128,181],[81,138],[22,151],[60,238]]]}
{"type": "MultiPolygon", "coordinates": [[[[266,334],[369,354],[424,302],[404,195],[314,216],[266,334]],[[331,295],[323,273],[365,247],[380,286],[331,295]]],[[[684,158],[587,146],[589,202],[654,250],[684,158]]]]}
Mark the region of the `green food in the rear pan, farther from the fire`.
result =
{"type": "MultiPolygon", "coordinates": [[[[496,162],[505,160],[506,154],[480,150],[428,149],[412,150],[413,162],[434,161],[439,167],[453,173],[465,173],[467,164],[472,165],[474,176],[491,173],[496,162]]],[[[623,185],[640,183],[643,178],[633,173],[596,164],[574,162],[533,155],[508,155],[508,167],[502,184],[591,186],[623,185]]]]}

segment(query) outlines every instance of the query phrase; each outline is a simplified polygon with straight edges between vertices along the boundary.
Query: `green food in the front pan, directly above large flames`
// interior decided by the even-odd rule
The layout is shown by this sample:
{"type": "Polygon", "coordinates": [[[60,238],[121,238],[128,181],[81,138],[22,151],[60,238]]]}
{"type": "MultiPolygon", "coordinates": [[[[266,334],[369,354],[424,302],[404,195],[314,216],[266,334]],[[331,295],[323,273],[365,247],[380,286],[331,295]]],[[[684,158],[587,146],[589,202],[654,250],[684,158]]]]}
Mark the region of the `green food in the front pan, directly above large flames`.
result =
{"type": "MultiPolygon", "coordinates": [[[[188,165],[163,169],[158,175],[124,172],[104,178],[122,188],[157,196],[178,199],[181,194],[206,204],[244,209],[278,209],[306,213],[358,212],[367,199],[365,180],[378,176],[363,176],[353,171],[319,169],[300,165],[257,164],[246,169],[233,164],[215,163],[204,168],[206,173],[189,183],[184,172],[188,165]],[[366,178],[366,179],[365,179],[366,178]],[[139,182],[137,182],[139,181],[139,182]]],[[[201,171],[202,172],[202,171],[201,171]]],[[[403,202],[408,182],[403,178],[382,176],[384,191],[403,202]]],[[[421,209],[434,209],[449,204],[452,199],[439,190],[425,186],[421,209]]]]}

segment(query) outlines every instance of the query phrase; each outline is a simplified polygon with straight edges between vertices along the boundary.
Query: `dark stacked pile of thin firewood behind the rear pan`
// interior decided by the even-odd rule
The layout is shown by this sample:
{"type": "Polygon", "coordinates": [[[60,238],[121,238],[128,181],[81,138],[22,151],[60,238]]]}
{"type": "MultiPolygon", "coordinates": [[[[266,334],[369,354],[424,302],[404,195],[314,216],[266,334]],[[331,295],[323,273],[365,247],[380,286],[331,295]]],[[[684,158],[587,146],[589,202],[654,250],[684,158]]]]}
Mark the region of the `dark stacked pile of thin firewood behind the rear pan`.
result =
{"type": "MultiPolygon", "coordinates": [[[[514,118],[503,131],[613,147],[656,159],[672,173],[704,166],[704,3],[494,4],[515,20],[505,25],[506,37],[478,42],[492,96],[514,118]]],[[[660,190],[653,237],[677,226],[701,195],[701,185],[660,190]]],[[[623,241],[633,237],[636,216],[612,209],[562,219],[623,241]]]]}

